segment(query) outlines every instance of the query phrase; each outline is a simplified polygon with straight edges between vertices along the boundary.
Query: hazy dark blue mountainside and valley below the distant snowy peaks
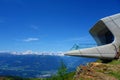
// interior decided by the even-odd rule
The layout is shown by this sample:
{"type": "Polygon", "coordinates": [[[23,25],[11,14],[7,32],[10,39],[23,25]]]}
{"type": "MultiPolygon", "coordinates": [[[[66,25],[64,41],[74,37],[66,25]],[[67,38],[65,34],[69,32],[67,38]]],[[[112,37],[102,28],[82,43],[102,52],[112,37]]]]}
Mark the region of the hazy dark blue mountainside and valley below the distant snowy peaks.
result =
{"type": "Polygon", "coordinates": [[[95,59],[56,55],[0,53],[0,75],[47,77],[57,72],[61,60],[64,61],[68,70],[72,71],[78,65],[86,64],[95,59]]]}

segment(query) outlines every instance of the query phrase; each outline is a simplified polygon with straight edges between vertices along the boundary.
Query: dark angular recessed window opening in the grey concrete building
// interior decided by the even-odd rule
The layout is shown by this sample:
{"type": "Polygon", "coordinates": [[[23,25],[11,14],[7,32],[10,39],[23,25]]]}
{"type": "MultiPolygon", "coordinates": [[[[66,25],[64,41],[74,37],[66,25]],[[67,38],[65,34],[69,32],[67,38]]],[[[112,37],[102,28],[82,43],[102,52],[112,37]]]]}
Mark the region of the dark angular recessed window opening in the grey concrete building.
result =
{"type": "Polygon", "coordinates": [[[110,44],[114,41],[114,36],[108,26],[103,21],[98,21],[90,30],[91,35],[97,42],[97,45],[110,44]]]}

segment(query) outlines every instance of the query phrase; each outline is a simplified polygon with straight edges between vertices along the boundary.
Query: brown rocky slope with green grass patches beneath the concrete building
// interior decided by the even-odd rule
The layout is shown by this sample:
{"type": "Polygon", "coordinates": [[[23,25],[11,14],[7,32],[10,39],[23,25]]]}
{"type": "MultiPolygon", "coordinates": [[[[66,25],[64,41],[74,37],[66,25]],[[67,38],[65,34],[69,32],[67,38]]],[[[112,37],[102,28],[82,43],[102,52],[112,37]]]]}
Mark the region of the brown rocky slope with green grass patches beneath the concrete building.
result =
{"type": "Polygon", "coordinates": [[[76,69],[74,80],[120,80],[120,60],[92,62],[76,69]]]}

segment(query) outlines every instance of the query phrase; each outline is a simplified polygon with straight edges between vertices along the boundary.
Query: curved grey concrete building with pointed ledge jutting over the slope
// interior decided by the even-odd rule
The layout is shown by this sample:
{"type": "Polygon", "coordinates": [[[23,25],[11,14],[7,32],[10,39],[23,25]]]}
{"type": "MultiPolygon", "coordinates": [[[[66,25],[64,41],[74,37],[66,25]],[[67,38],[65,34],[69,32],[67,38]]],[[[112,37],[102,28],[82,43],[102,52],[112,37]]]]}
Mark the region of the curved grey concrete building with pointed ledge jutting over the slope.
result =
{"type": "Polygon", "coordinates": [[[120,51],[120,13],[100,19],[91,29],[90,34],[97,42],[97,47],[72,50],[65,55],[115,59],[120,51]]]}

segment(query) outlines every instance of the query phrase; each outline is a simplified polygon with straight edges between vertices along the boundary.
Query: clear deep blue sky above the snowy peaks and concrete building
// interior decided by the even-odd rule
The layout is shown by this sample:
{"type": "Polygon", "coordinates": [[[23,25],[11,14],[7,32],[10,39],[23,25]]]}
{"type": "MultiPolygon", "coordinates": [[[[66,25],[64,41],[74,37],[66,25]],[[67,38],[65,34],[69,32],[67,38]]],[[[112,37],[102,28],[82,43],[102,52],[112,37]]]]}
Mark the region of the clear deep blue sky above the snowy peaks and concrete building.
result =
{"type": "Polygon", "coordinates": [[[120,0],[0,0],[0,51],[67,51],[95,43],[89,29],[120,0]]]}

